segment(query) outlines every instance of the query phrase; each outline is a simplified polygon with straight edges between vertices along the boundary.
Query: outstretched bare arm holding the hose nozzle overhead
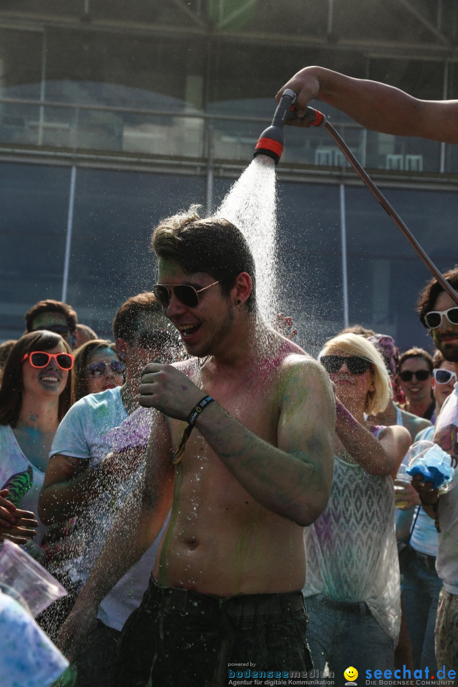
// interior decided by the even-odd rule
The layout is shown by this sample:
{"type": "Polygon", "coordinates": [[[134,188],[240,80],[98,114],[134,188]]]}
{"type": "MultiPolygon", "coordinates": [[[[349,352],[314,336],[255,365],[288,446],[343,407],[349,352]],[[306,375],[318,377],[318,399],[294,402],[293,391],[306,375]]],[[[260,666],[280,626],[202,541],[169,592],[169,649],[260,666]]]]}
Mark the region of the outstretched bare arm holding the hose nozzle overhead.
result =
{"type": "MultiPolygon", "coordinates": [[[[297,93],[299,118],[304,117],[309,100],[321,98],[373,131],[458,143],[458,100],[417,100],[393,86],[323,67],[298,71],[278,91],[277,102],[287,88],[297,93]]],[[[310,126],[310,121],[288,124],[310,126]]]]}

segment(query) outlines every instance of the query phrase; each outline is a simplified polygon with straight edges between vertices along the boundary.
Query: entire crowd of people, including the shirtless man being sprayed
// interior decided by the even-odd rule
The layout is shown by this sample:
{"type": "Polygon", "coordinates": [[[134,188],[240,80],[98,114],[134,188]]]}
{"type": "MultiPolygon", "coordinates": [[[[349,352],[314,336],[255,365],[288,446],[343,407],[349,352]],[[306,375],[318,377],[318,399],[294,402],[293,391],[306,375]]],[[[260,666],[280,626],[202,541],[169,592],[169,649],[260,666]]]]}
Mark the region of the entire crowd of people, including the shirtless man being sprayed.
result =
{"type": "Polygon", "coordinates": [[[44,300],[0,346],[0,539],[67,589],[37,618],[71,661],[59,684],[455,678],[456,490],[405,469],[419,440],[457,466],[458,304],[420,294],[435,352],[356,325],[314,360],[258,314],[237,227],[193,206],[152,247],[115,343],[44,300]]]}

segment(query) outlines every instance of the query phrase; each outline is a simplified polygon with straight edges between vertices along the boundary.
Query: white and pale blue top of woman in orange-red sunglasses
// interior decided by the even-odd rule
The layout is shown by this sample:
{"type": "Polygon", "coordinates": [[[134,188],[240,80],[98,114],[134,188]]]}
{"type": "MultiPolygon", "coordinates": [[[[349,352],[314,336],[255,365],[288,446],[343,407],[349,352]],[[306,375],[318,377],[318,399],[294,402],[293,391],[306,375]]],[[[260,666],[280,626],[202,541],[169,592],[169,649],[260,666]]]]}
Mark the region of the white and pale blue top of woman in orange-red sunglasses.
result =
{"type": "Polygon", "coordinates": [[[0,425],[0,488],[9,489],[8,500],[16,508],[32,510],[40,525],[34,541],[41,544],[47,526],[38,517],[38,497],[45,480],[41,472],[27,459],[10,425],[0,425]]]}

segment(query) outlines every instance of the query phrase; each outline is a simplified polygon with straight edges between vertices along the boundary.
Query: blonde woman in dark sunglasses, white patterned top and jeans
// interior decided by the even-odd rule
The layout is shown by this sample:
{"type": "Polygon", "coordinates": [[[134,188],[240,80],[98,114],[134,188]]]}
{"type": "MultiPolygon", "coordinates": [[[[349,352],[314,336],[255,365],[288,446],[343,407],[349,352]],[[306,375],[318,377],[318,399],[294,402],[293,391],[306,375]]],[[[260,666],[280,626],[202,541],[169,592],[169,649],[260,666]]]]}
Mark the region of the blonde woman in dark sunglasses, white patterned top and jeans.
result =
{"type": "Polygon", "coordinates": [[[370,341],[340,335],[319,360],[336,394],[336,451],[328,506],[305,530],[308,642],[319,671],[326,663],[336,675],[348,666],[392,670],[401,611],[391,475],[411,437],[367,419],[392,394],[370,341]]]}

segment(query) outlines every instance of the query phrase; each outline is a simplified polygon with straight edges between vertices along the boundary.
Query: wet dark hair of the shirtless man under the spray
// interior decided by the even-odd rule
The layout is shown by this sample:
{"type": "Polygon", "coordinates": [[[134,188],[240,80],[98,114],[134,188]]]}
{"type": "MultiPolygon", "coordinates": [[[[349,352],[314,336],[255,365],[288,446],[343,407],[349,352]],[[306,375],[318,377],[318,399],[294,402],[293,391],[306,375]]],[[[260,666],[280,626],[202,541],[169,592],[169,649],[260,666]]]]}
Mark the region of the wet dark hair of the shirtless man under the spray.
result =
{"type": "Polygon", "coordinates": [[[174,260],[187,274],[205,272],[220,282],[222,293],[229,292],[241,272],[251,276],[247,299],[255,311],[255,262],[242,232],[226,219],[198,215],[198,205],[187,213],[163,220],[154,229],[152,247],[158,258],[174,260]]]}

